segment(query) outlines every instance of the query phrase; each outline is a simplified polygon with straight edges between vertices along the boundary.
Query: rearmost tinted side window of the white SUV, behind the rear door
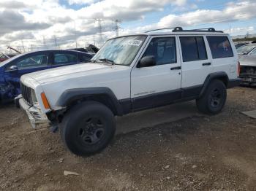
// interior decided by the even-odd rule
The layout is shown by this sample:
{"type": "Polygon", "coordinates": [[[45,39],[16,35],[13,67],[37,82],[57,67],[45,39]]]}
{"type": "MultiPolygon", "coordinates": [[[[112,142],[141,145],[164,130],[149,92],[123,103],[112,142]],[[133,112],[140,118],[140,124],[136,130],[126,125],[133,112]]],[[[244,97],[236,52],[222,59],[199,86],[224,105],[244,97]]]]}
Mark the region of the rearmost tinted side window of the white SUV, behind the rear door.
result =
{"type": "Polygon", "coordinates": [[[212,58],[233,57],[233,50],[227,36],[207,36],[212,58]]]}

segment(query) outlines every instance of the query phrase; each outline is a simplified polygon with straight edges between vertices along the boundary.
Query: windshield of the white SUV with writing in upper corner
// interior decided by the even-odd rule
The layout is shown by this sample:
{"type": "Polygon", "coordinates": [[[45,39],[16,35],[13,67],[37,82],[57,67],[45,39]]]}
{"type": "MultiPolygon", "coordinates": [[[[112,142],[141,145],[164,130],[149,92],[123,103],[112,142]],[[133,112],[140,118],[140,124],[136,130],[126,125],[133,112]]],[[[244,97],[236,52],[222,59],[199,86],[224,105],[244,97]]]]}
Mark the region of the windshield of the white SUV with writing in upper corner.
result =
{"type": "Polygon", "coordinates": [[[110,39],[91,60],[129,66],[145,39],[144,35],[110,39]]]}

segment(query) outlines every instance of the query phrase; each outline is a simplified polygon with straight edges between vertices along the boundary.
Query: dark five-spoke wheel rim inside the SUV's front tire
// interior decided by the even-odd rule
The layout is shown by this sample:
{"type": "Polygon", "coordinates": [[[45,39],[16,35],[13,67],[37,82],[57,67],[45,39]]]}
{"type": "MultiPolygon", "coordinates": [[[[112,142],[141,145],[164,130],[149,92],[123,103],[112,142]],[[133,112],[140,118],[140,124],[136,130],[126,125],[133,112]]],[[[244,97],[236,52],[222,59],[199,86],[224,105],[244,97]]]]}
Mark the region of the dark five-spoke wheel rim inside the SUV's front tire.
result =
{"type": "Polygon", "coordinates": [[[80,125],[78,137],[83,144],[96,144],[102,139],[105,133],[104,125],[99,117],[88,117],[80,125]]]}

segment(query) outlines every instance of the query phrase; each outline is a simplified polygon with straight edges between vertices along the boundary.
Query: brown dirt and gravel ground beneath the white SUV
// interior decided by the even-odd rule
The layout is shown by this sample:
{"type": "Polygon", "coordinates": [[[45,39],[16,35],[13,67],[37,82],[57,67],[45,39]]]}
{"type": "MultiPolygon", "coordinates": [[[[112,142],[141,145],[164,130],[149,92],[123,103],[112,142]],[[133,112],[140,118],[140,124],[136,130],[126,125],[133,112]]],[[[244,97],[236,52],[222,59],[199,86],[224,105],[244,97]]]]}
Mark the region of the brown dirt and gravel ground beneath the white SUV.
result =
{"type": "Polygon", "coordinates": [[[131,114],[105,151],[77,157],[1,106],[0,190],[256,190],[256,120],[240,113],[252,109],[256,90],[237,87],[215,116],[193,102],[131,114]]]}

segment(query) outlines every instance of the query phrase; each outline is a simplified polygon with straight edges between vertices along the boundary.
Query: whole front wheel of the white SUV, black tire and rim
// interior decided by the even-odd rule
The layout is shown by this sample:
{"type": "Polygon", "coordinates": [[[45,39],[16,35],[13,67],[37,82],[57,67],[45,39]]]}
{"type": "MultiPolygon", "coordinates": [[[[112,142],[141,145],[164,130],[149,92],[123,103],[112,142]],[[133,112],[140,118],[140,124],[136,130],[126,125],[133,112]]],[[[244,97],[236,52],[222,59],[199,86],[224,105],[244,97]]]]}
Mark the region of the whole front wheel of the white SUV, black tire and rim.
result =
{"type": "Polygon", "coordinates": [[[61,139],[75,155],[93,155],[108,146],[116,121],[110,109],[97,101],[74,106],[60,125],[61,139]]]}

